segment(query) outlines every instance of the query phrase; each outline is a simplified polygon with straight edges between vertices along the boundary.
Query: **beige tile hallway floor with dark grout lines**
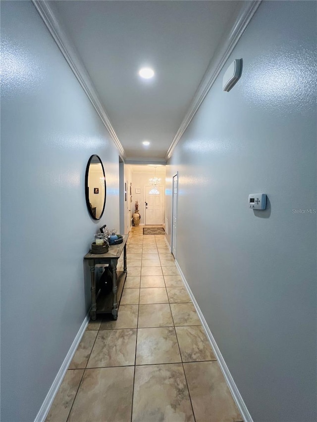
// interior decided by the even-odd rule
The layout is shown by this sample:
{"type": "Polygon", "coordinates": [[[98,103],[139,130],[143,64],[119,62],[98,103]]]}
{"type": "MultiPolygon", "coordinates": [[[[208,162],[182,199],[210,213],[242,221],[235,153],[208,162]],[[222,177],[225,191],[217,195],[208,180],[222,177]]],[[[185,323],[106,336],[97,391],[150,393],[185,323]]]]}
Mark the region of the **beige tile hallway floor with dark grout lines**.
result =
{"type": "Polygon", "coordinates": [[[127,267],[117,321],[89,323],[46,421],[242,421],[164,235],[132,228],[127,267]]]}

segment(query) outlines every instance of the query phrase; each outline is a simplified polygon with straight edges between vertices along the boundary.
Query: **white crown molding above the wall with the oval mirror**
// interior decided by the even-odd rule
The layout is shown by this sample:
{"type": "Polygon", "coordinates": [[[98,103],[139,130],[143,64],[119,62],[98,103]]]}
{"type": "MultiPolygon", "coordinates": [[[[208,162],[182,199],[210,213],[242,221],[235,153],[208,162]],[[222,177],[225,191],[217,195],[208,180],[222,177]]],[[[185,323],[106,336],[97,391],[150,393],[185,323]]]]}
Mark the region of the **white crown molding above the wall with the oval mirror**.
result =
{"type": "Polygon", "coordinates": [[[69,67],[73,71],[74,75],[78,79],[78,82],[82,86],[83,90],[85,91],[86,95],[90,99],[90,102],[94,106],[95,110],[97,111],[99,117],[101,118],[102,122],[106,126],[114,144],[119,150],[119,154],[122,158],[125,158],[125,152],[121,142],[119,141],[112,125],[110,119],[106,113],[106,110],[99,99],[99,96],[95,90],[95,87],[90,79],[90,76],[83,65],[82,61],[80,60],[75,48],[70,43],[67,35],[59,25],[51,7],[49,6],[46,0],[31,0],[34,7],[38,11],[39,15],[41,16],[43,22],[47,26],[48,30],[50,31],[53,40],[57,44],[58,48],[60,49],[61,53],[65,57],[69,67]]]}

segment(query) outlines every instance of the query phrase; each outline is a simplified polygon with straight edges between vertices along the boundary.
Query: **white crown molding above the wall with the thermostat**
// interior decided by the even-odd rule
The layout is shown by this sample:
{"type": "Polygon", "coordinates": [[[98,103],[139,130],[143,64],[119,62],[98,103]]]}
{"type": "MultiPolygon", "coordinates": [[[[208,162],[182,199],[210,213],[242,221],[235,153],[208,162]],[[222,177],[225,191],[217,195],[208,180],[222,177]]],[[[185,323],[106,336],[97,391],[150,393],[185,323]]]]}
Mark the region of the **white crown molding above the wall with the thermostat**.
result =
{"type": "Polygon", "coordinates": [[[199,109],[201,103],[204,101],[206,95],[211,89],[216,77],[219,75],[233,48],[236,46],[242,34],[246,30],[252,16],[255,14],[256,10],[260,6],[261,1],[262,0],[244,1],[244,6],[241,8],[240,13],[237,19],[235,20],[231,31],[222,40],[220,46],[216,50],[216,53],[212,57],[211,62],[209,63],[207,71],[201,83],[199,84],[199,87],[175,135],[175,138],[173,139],[172,143],[170,144],[170,147],[168,148],[167,154],[165,156],[166,160],[171,157],[178,141],[181,139],[182,135],[187,129],[187,126],[197,113],[197,110],[199,109]]]}

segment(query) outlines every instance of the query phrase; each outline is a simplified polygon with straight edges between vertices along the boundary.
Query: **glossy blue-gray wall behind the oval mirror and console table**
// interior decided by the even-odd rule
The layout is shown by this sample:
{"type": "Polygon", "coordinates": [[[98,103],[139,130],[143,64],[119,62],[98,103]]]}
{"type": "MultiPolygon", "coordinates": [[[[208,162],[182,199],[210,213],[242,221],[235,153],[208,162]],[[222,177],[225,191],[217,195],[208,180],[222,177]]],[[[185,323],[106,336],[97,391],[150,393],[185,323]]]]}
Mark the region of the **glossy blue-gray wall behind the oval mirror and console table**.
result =
{"type": "Polygon", "coordinates": [[[83,256],[119,228],[119,159],[34,6],[1,1],[1,421],[33,421],[89,309],[83,256]],[[92,154],[104,217],[84,194],[92,154]]]}

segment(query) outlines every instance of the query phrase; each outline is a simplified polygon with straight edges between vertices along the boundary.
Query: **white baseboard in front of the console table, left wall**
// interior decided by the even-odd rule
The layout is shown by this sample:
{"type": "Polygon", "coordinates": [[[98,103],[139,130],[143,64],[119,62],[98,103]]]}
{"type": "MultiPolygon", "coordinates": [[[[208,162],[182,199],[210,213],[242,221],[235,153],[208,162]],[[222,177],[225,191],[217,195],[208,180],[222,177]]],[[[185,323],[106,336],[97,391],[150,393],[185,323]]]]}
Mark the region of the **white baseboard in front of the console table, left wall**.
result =
{"type": "Polygon", "coordinates": [[[70,349],[67,352],[67,355],[64,359],[64,362],[62,363],[61,367],[59,368],[59,371],[57,375],[55,376],[55,379],[53,381],[53,384],[51,385],[51,388],[45,397],[45,400],[41,406],[41,409],[39,410],[39,413],[36,415],[36,418],[34,422],[44,422],[45,418],[47,417],[49,410],[52,406],[52,403],[54,401],[55,395],[58,391],[58,388],[60,387],[60,384],[66,374],[66,371],[69,367],[69,364],[77,350],[77,347],[80,343],[80,340],[82,339],[82,336],[84,335],[85,329],[88,326],[90,320],[89,312],[86,315],[81,327],[79,328],[76,337],[74,338],[74,341],[72,342],[72,345],[70,346],[70,349]]]}

